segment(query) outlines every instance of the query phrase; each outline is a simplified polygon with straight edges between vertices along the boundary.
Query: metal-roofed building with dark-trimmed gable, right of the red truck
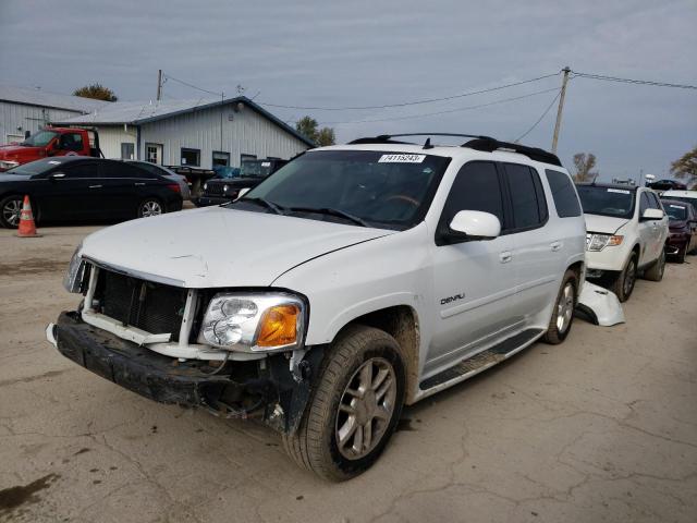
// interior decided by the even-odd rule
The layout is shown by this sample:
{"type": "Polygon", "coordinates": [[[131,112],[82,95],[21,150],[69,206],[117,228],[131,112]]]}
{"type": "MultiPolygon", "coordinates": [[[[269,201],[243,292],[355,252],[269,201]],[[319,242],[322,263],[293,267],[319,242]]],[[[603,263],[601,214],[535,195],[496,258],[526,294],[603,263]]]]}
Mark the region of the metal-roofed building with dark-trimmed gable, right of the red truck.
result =
{"type": "Polygon", "coordinates": [[[245,158],[291,158],[315,144],[247,97],[117,101],[54,125],[99,132],[107,158],[211,169],[245,158]]]}

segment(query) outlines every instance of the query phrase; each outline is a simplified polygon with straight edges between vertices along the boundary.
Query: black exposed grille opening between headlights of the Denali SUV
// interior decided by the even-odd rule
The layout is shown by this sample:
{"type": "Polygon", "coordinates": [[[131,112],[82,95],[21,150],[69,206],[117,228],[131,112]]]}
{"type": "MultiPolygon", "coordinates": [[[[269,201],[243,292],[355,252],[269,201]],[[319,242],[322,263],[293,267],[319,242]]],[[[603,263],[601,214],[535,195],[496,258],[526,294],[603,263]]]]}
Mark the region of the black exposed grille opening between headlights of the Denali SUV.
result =
{"type": "Polygon", "coordinates": [[[178,341],[186,293],[186,289],[100,269],[94,300],[99,313],[124,326],[151,335],[171,333],[171,341],[178,341]]]}

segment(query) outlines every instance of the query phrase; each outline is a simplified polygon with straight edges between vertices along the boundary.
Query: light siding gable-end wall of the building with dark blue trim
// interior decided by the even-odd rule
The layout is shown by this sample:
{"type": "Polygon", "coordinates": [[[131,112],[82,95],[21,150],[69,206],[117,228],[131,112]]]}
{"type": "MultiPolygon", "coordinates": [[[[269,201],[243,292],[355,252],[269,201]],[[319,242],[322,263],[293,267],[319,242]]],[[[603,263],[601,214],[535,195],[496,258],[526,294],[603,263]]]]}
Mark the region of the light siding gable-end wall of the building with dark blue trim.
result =
{"type": "Polygon", "coordinates": [[[162,163],[169,166],[181,163],[182,147],[200,149],[199,167],[205,169],[212,167],[213,150],[230,153],[230,163],[239,167],[242,154],[288,159],[308,148],[305,143],[253,109],[245,106],[234,112],[230,105],[143,124],[142,159],[145,157],[146,143],[162,144],[162,163]]]}

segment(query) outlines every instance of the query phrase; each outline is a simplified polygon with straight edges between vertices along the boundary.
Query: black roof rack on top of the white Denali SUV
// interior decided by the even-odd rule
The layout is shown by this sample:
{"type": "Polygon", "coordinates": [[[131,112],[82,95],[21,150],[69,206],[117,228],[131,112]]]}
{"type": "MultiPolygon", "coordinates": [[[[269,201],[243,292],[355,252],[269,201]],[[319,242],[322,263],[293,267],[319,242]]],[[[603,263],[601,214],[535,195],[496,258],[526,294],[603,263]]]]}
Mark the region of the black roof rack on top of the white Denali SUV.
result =
{"type": "MultiPolygon", "coordinates": [[[[365,145],[365,144],[404,144],[416,145],[409,142],[399,142],[392,138],[400,138],[404,136],[455,136],[460,138],[474,138],[462,144],[461,147],[467,147],[475,150],[485,150],[493,153],[494,150],[503,149],[512,153],[518,153],[527,156],[535,161],[541,161],[543,163],[550,163],[552,166],[562,167],[562,162],[557,155],[553,155],[539,147],[528,147],[526,145],[513,144],[511,142],[500,142],[491,136],[482,136],[477,134],[455,134],[455,133],[403,133],[403,134],[380,134],[374,137],[357,138],[353,142],[348,142],[348,145],[365,145]]],[[[431,148],[430,139],[426,141],[424,145],[425,149],[431,148]]]]}

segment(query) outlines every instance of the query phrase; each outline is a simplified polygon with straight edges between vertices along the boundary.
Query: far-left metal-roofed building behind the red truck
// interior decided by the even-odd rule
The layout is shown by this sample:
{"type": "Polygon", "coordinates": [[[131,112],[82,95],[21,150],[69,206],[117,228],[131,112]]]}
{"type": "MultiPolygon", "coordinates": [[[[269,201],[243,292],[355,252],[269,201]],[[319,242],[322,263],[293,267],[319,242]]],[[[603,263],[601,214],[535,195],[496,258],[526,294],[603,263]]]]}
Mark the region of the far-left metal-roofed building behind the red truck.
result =
{"type": "Polygon", "coordinates": [[[95,111],[109,101],[46,90],[0,85],[0,141],[22,142],[51,120],[63,120],[95,111]]]}

